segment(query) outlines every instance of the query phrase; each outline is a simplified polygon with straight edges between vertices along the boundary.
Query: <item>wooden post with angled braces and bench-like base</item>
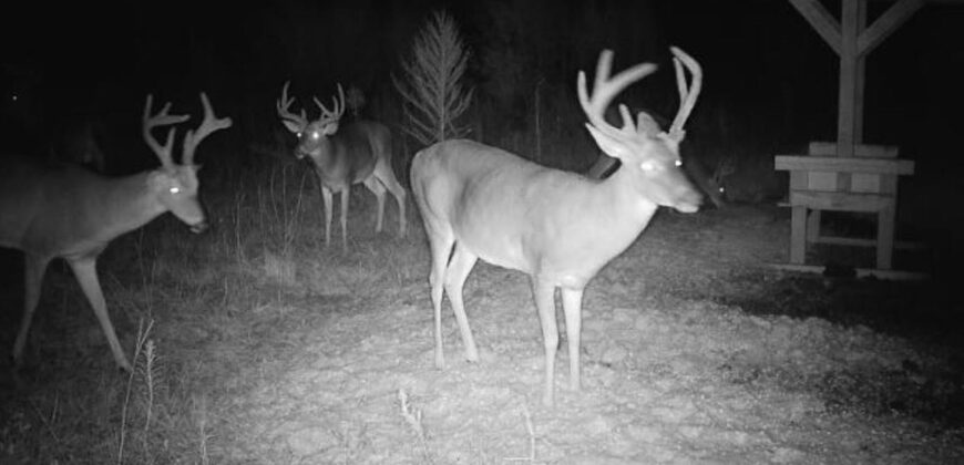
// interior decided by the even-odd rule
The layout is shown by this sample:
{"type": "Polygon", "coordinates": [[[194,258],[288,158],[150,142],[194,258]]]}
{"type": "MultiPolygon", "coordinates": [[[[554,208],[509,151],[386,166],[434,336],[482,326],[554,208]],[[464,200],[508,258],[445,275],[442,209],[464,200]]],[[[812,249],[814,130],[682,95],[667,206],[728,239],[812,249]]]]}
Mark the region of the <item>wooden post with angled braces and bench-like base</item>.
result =
{"type": "Polygon", "coordinates": [[[863,144],[864,60],[925,0],[898,0],[866,24],[868,0],[841,0],[838,21],[819,0],[789,0],[840,56],[837,142],[813,142],[806,155],[779,155],[776,169],[790,172],[793,209],[791,267],[800,268],[808,241],[876,247],[876,268],[892,267],[898,176],[911,175],[913,162],[898,159],[898,148],[863,144]],[[874,240],[821,238],[820,211],[878,215],[874,240]],[[809,217],[808,217],[809,213],[809,217]]]}

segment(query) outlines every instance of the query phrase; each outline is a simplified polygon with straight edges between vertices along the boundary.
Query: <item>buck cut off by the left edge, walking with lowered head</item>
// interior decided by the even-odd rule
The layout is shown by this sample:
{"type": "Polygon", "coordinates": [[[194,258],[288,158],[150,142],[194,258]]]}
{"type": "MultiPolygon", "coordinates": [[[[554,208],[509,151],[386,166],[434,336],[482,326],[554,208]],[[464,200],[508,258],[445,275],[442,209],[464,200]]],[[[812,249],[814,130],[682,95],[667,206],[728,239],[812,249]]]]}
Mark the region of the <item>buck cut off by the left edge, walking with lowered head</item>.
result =
{"type": "Polygon", "coordinates": [[[197,200],[197,169],[194,152],[213,132],[229,127],[230,118],[216,118],[202,93],[204,121],[184,137],[182,163],[174,162],[174,128],[161,145],[151,134],[156,126],[188,120],[171,115],[171,104],[152,115],[147,96],[142,120],[144,141],[161,159],[161,167],[123,177],[104,177],[73,165],[48,166],[22,157],[2,159],[0,170],[0,246],[25,255],[23,319],[13,344],[16,365],[22,362],[23,345],[40,299],[44,270],[53,258],[70,265],[107,338],[117,365],[131,363],[121,350],[107,314],[98,279],[98,256],[117,236],[140,228],[171,211],[201,232],[206,228],[204,209],[197,200]]]}

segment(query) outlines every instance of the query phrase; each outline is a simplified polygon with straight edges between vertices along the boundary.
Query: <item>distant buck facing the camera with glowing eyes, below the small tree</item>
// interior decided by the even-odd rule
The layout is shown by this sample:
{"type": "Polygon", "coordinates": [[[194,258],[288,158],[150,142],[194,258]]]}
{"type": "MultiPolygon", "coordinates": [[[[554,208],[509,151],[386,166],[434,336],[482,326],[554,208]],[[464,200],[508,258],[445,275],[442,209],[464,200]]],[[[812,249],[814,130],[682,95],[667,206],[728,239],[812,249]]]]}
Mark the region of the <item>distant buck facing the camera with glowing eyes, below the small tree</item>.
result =
{"type": "Polygon", "coordinates": [[[331,242],[331,196],[341,193],[341,248],[348,249],[348,194],[355,184],[365,184],[378,199],[378,218],[375,230],[381,232],[384,216],[384,190],[398,202],[399,236],[406,234],[406,190],[394,177],[391,167],[391,133],[388,126],[372,121],[353,121],[340,125],[345,113],[345,92],[338,84],[338,97],[332,97],[334,110],[328,110],[316,97],[321,110],[318,120],[309,122],[305,110],[300,114],[288,108],[295,97],[288,99],[288,84],[281,89],[281,99],[276,103],[278,116],[288,131],[298,136],[295,156],[310,157],[315,172],[321,180],[321,198],[325,200],[325,246],[331,242]]]}

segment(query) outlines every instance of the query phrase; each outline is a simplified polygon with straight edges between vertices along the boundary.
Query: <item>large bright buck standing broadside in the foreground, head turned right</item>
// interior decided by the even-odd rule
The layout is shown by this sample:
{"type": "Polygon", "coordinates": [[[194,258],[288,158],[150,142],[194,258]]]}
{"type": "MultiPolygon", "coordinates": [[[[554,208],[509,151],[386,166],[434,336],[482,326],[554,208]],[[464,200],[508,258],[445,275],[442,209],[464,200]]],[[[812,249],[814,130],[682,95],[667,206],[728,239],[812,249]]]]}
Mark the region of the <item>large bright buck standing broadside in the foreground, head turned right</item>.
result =
{"type": "Polygon", "coordinates": [[[635,239],[658,206],[683,213],[699,208],[701,196],[680,169],[683,125],[696,103],[699,64],[673,48],[677,79],[693,73],[669,132],[639,114],[634,124],[621,105],[623,127],[603,118],[609,102],[625,87],[656,70],[652,63],[609,78],[613,53],[604,51],[596,68],[592,96],[578,74],[578,95],[586,126],[599,148],[622,167],[604,180],[547,168],[499,148],[472,141],[445,141],[412,162],[412,194],[425,224],[432,255],[432,304],[435,311],[435,364],[442,366],[441,308],[443,291],[455,313],[465,355],[479,359],[462,302],[462,286],[478,259],[527,273],[545,344],[543,402],[553,404],[553,373],[558,344],[554,293],[562,289],[568,339],[570,385],[580,389],[581,306],[586,283],[635,239]],[[454,250],[453,250],[454,249],[454,250]],[[451,258],[450,258],[451,256],[451,258]]]}

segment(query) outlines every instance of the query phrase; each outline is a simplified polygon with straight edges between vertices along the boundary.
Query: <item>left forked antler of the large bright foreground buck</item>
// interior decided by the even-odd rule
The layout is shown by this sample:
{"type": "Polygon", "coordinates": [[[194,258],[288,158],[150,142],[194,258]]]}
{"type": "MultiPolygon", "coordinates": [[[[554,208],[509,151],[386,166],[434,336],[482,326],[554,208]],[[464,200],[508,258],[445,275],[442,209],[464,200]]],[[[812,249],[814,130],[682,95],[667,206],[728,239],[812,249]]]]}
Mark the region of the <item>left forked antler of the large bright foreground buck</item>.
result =
{"type": "Polygon", "coordinates": [[[586,73],[580,71],[577,80],[580,104],[583,107],[583,112],[586,113],[589,124],[597,130],[611,136],[628,136],[632,135],[632,133],[635,133],[636,128],[626,105],[619,105],[619,114],[623,116],[622,130],[617,130],[607,123],[603,115],[606,112],[606,107],[609,106],[609,103],[619,94],[619,92],[628,87],[629,84],[656,71],[656,65],[653,63],[640,63],[609,78],[612,65],[613,51],[604,50],[599,54],[599,61],[596,64],[596,76],[593,83],[592,97],[589,97],[588,92],[586,91],[586,73]]]}

